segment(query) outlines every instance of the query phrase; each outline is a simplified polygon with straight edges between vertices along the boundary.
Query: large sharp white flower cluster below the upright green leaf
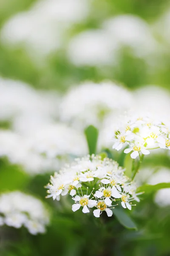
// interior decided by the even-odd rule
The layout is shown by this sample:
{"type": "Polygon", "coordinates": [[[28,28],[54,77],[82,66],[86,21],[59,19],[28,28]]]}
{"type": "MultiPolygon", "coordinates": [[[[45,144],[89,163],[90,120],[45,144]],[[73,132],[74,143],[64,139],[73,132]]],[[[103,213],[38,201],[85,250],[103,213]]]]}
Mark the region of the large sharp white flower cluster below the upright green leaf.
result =
{"type": "Polygon", "coordinates": [[[82,208],[82,212],[90,212],[95,208],[95,217],[105,211],[112,216],[113,209],[118,202],[123,208],[131,210],[131,201],[139,201],[136,186],[124,175],[124,169],[118,163],[100,156],[87,156],[76,159],[73,164],[66,166],[51,176],[48,183],[47,198],[59,201],[61,196],[71,195],[74,200],[72,210],[82,208]]]}

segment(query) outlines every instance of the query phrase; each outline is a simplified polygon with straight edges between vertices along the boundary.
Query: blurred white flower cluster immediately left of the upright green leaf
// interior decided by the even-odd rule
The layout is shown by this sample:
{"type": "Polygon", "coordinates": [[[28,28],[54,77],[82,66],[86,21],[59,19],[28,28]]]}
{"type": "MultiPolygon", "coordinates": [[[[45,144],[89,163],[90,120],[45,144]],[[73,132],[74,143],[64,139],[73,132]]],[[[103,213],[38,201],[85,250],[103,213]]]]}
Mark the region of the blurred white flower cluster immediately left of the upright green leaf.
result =
{"type": "Polygon", "coordinates": [[[65,124],[46,125],[31,137],[31,148],[47,157],[62,157],[63,155],[82,156],[87,154],[88,147],[85,136],[65,124]]]}

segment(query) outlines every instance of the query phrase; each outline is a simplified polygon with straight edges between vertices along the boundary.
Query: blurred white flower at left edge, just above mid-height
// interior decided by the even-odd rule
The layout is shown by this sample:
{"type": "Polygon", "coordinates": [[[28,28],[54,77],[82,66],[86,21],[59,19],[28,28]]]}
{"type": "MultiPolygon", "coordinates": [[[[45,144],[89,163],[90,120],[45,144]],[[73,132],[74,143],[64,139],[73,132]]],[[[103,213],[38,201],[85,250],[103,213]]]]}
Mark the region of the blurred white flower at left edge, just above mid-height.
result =
{"type": "MultiPolygon", "coordinates": [[[[36,91],[21,81],[1,78],[0,92],[0,120],[14,122],[16,130],[17,125],[19,126],[18,129],[22,130],[17,122],[22,117],[39,116],[41,122],[49,122],[49,120],[57,117],[57,105],[59,103],[57,93],[36,91]]],[[[38,121],[36,118],[31,120],[32,123],[35,123],[34,126],[39,122],[39,119],[38,121]]],[[[27,124],[25,124],[25,130],[26,127],[27,124]]]]}

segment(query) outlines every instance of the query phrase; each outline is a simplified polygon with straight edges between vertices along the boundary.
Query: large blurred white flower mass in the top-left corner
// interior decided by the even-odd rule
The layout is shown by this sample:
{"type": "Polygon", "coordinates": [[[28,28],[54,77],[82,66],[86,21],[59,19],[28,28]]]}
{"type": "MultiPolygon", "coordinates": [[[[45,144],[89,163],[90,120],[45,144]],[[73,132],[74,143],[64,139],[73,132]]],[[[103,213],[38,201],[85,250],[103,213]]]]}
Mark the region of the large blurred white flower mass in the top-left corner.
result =
{"type": "Polygon", "coordinates": [[[4,44],[24,44],[34,57],[62,47],[67,30],[88,15],[86,0],[41,0],[30,10],[11,17],[3,26],[4,44]]]}

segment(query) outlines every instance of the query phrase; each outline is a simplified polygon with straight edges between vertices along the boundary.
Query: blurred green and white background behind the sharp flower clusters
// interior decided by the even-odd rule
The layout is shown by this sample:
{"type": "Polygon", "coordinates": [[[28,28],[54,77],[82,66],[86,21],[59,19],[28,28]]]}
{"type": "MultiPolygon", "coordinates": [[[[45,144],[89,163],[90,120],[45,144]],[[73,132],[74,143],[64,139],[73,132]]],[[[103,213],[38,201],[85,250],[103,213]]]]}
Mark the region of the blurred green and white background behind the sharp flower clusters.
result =
{"type": "MultiPolygon", "coordinates": [[[[111,134],[127,111],[170,119],[169,27],[168,0],[0,1],[0,213],[12,204],[2,196],[20,191],[49,218],[37,235],[0,220],[0,255],[170,255],[170,189],[142,195],[130,212],[138,231],[73,213],[44,189],[54,171],[88,154],[88,125],[99,130],[96,152],[128,175],[130,157],[112,151],[111,134]]],[[[136,177],[160,182],[170,182],[169,150],[146,157],[136,177]]]]}

